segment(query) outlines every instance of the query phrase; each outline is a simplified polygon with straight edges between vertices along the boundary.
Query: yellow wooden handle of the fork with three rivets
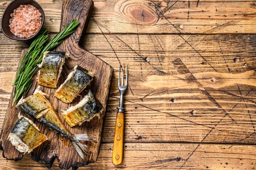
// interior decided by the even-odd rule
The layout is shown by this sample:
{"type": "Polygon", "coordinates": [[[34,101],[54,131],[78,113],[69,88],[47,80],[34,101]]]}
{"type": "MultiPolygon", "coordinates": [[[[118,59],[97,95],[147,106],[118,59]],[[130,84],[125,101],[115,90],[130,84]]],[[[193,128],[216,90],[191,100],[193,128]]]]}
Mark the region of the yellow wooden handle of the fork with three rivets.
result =
{"type": "Polygon", "coordinates": [[[124,122],[124,112],[117,112],[115,120],[115,135],[112,153],[112,163],[114,165],[120,165],[123,161],[124,122]]]}

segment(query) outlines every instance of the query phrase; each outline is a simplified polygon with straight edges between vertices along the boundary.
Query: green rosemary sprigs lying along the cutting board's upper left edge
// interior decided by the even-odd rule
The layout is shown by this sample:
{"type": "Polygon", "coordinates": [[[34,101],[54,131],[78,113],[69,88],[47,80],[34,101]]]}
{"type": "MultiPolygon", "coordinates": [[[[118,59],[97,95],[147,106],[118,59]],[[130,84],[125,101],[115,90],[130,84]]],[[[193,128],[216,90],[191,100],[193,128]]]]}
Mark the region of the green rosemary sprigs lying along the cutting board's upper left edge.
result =
{"type": "Polygon", "coordinates": [[[28,51],[25,53],[20,67],[15,77],[14,101],[17,101],[22,95],[26,95],[32,86],[32,77],[36,73],[38,65],[42,62],[43,53],[54,49],[61,44],[65,38],[75,31],[79,21],[73,19],[64,30],[56,34],[51,41],[43,48],[49,35],[46,30],[42,30],[37,38],[31,43],[28,51]]]}

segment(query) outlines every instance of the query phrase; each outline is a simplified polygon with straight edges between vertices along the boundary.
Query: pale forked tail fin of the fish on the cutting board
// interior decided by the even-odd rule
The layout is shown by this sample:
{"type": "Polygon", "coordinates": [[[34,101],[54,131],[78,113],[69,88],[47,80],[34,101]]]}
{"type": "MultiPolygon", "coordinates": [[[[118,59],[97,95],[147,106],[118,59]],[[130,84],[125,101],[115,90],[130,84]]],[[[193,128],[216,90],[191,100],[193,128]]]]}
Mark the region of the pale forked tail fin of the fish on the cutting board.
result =
{"type": "Polygon", "coordinates": [[[72,144],[76,152],[81,156],[83,160],[86,160],[85,154],[89,154],[88,147],[87,147],[87,144],[85,144],[85,141],[91,141],[91,142],[97,143],[96,140],[92,139],[87,134],[74,134],[72,144]]]}

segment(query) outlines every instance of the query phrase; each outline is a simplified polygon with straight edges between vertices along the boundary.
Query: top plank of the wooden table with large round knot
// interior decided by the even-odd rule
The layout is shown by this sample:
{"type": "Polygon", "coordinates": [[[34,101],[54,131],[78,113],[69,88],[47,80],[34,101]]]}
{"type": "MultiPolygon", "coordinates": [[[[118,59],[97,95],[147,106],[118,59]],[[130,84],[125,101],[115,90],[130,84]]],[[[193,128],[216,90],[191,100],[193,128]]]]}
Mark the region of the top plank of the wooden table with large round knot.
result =
{"type": "MultiPolygon", "coordinates": [[[[58,32],[62,0],[37,0],[45,12],[45,27],[58,32]]],[[[10,0],[0,0],[0,15],[10,0]]],[[[255,34],[253,0],[94,0],[87,33],[135,34],[255,34]]]]}

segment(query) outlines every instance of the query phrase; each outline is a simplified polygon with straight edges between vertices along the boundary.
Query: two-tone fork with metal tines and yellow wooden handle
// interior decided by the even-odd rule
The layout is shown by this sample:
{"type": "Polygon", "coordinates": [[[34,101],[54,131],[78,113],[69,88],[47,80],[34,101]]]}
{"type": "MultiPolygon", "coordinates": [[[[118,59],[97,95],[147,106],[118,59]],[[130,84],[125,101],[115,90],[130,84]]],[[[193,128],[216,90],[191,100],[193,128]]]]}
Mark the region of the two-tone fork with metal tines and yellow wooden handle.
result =
{"type": "Polygon", "coordinates": [[[120,92],[119,107],[117,107],[117,114],[115,120],[115,135],[112,152],[112,163],[114,165],[120,165],[123,161],[123,145],[124,145],[124,122],[125,122],[125,108],[124,108],[124,93],[128,85],[128,65],[126,68],[126,84],[124,85],[125,77],[125,65],[123,67],[123,78],[122,85],[120,85],[120,69],[119,65],[119,76],[118,76],[118,89],[120,92]]]}

